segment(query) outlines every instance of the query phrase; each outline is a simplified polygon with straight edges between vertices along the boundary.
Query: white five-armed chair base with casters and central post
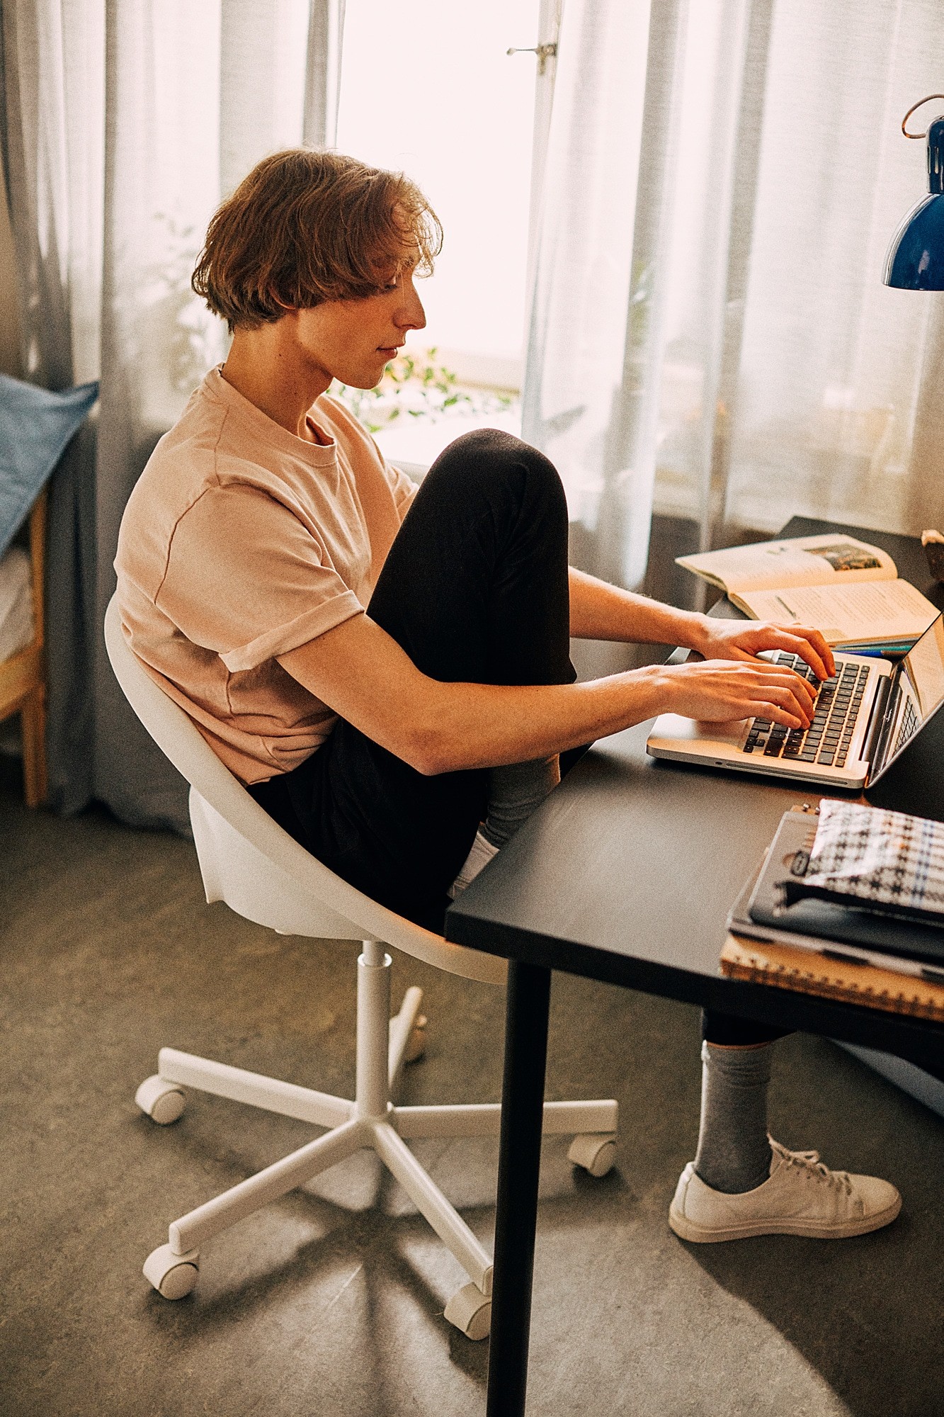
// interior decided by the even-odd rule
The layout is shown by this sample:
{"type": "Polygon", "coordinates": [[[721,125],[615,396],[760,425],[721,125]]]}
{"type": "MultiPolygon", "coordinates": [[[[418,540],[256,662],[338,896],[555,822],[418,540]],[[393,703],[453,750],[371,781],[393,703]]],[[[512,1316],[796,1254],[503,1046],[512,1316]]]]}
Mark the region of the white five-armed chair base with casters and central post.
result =
{"type": "MultiPolygon", "coordinates": [[[[339,1161],[367,1146],[377,1152],[412,1203],[425,1216],[469,1277],[446,1304],[445,1318],[466,1338],[489,1332],[492,1260],[478,1237],[449,1204],[407,1146],[422,1136],[498,1136],[498,1102],[454,1107],[397,1107],[391,1094],[404,1061],[422,1051],[422,993],[407,989],[400,1012],[390,1017],[390,955],[364,941],[357,961],[357,1090],[354,1101],[262,1077],[244,1068],[162,1049],[157,1074],[137,1090],[135,1101],[160,1125],[184,1110],[181,1088],[245,1102],[264,1111],[329,1128],[289,1156],[231,1186],[221,1196],[174,1220],[167,1244],[145,1261],[145,1277],[167,1299],[190,1294],[197,1282],[200,1247],[278,1196],[293,1190],[339,1161]]],[[[595,1102],[546,1102],[544,1132],[573,1135],[568,1156],[594,1176],[609,1170],[615,1153],[618,1107],[595,1102]]]]}

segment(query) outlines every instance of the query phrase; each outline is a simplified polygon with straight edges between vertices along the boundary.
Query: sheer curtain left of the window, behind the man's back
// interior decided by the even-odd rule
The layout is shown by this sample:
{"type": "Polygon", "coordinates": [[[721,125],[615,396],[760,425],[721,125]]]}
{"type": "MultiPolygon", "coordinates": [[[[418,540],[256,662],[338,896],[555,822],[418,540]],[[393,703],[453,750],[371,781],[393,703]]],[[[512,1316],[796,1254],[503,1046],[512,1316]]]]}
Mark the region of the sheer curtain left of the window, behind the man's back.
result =
{"type": "Polygon", "coordinates": [[[57,476],[52,798],[186,825],[180,779],[103,659],[128,495],[225,349],[190,292],[207,221],[262,154],[330,142],[343,0],[17,0],[3,7],[11,224],[27,377],[102,378],[98,438],[57,476]],[[98,446],[95,448],[95,441],[98,446]]]}

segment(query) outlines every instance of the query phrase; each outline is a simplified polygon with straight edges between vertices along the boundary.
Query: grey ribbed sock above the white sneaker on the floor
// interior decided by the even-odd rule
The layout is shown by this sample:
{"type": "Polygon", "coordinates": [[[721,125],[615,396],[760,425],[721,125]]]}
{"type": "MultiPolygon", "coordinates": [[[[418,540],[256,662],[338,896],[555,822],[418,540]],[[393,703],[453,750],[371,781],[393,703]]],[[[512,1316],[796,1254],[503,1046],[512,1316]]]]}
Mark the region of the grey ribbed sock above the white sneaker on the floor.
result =
{"type": "Polygon", "coordinates": [[[702,1127],[695,1170],[706,1186],[736,1195],[770,1176],[767,1084],[774,1044],[702,1044],[702,1127]]]}

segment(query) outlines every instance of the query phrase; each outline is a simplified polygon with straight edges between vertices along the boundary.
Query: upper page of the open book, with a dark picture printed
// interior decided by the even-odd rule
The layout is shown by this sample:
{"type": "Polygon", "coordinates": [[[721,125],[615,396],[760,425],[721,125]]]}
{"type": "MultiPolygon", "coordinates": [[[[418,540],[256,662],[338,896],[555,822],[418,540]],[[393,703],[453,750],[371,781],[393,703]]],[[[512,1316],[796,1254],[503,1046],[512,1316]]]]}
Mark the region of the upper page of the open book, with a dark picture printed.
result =
{"type": "Polygon", "coordinates": [[[733,546],[679,555],[676,563],[724,591],[893,581],[899,574],[887,551],[842,533],[733,546]]]}

